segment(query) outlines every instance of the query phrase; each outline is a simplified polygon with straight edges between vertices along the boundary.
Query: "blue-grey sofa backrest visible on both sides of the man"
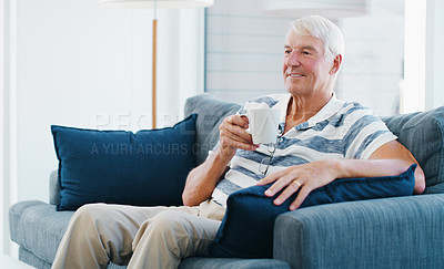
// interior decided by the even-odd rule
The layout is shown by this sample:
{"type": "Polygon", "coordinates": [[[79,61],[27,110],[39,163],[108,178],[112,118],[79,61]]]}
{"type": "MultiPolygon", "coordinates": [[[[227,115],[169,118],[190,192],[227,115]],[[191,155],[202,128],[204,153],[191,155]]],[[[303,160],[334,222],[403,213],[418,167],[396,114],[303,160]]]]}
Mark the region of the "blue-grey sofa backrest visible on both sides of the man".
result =
{"type": "MultiPolygon", "coordinates": [[[[200,94],[186,100],[185,116],[196,113],[196,161],[205,161],[219,141],[219,125],[240,104],[200,94]]],[[[444,106],[432,111],[384,117],[389,128],[408,148],[424,169],[425,194],[444,193],[444,106]]]]}

